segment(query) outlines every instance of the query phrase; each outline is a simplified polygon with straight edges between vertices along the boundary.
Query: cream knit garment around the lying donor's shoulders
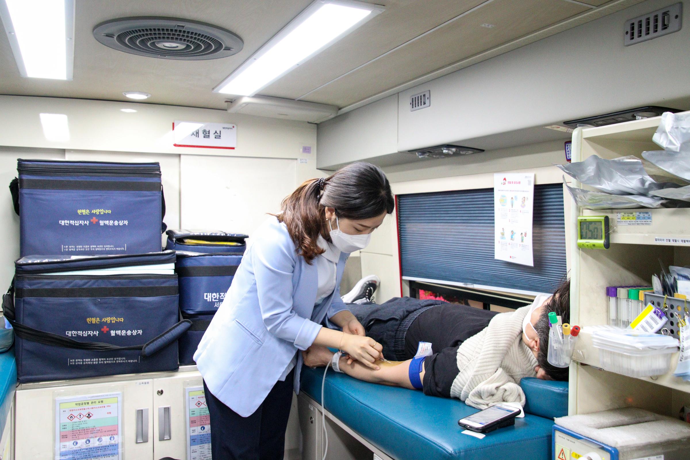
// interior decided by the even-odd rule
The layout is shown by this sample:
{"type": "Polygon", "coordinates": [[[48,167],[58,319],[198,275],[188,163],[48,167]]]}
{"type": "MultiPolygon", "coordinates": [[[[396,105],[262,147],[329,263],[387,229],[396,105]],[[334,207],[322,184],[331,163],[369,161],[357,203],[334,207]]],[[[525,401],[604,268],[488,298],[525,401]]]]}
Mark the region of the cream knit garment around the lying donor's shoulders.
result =
{"type": "Polygon", "coordinates": [[[451,396],[466,404],[486,409],[500,402],[524,406],[522,377],[536,377],[537,359],[522,341],[522,320],[529,306],[500,313],[489,326],[457,349],[460,371],[451,386],[451,396]]]}

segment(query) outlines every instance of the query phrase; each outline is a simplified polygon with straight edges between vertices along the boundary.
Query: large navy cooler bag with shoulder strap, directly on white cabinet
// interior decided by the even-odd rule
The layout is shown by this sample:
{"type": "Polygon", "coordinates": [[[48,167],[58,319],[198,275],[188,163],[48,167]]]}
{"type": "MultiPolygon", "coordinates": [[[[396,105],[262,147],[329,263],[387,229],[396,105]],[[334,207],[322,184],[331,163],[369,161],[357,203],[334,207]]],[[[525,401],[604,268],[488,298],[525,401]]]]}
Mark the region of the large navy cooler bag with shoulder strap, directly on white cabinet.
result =
{"type": "Polygon", "coordinates": [[[21,383],[175,370],[175,252],[23,257],[3,309],[21,383]]]}

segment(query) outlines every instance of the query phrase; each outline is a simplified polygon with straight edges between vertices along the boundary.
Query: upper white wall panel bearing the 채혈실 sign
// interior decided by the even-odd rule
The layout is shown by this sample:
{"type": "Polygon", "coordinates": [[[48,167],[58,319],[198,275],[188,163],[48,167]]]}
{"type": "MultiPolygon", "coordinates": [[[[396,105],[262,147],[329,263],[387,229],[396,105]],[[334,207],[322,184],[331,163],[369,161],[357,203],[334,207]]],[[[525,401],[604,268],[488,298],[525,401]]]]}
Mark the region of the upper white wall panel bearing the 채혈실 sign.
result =
{"type": "Polygon", "coordinates": [[[306,121],[148,103],[0,96],[0,126],[3,146],[305,159],[316,154],[316,126],[306,121]],[[137,112],[121,112],[122,108],[137,112]],[[70,139],[48,141],[43,135],[39,113],[66,114],[70,139]],[[172,145],[175,120],[235,123],[237,148],[175,147],[172,145]],[[312,153],[302,154],[303,146],[311,147],[312,153]]]}

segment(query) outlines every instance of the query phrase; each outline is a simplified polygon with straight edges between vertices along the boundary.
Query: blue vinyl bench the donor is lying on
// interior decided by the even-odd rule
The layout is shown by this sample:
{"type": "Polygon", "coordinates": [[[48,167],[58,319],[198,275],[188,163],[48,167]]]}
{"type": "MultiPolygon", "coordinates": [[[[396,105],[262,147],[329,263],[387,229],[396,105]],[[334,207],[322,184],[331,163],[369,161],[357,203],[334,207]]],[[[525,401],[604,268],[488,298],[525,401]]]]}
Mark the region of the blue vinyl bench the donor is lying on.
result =
{"type": "MultiPolygon", "coordinates": [[[[321,403],[324,368],[302,369],[302,391],[321,403]]],[[[457,421],[477,412],[457,399],[366,383],[331,370],[325,409],[396,460],[549,460],[553,417],[568,412],[568,383],[522,379],[525,417],[484,439],[462,434],[457,421]]]]}

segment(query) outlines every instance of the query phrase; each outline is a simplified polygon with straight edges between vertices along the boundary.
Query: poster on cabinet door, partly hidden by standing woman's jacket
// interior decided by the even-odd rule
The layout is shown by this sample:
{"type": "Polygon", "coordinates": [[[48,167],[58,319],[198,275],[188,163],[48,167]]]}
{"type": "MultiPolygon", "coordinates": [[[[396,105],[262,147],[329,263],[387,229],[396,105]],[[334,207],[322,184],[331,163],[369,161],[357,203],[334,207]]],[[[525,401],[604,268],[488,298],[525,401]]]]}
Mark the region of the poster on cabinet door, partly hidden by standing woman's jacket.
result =
{"type": "Polygon", "coordinates": [[[187,460],[211,460],[211,421],[203,386],[185,388],[187,460]]]}

